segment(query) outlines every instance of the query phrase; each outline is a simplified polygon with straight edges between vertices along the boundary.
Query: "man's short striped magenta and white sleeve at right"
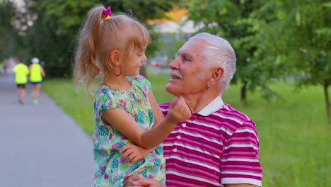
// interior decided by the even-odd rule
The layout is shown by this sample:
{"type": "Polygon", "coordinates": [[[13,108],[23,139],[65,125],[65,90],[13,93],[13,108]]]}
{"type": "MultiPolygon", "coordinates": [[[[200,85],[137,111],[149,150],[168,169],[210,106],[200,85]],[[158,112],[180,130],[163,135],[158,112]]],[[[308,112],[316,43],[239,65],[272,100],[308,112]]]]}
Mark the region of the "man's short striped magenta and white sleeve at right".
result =
{"type": "Polygon", "coordinates": [[[243,123],[223,144],[221,183],[250,183],[262,186],[259,140],[255,124],[252,121],[243,123]]]}

